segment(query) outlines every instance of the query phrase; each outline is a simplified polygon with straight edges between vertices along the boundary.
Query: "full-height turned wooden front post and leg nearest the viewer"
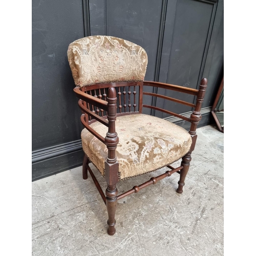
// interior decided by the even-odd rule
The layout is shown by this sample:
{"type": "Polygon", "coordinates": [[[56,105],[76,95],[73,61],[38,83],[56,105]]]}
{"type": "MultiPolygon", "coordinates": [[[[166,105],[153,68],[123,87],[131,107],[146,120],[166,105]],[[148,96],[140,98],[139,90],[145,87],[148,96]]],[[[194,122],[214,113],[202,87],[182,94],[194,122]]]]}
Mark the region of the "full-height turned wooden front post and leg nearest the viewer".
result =
{"type": "Polygon", "coordinates": [[[115,213],[117,205],[117,188],[116,183],[118,182],[118,162],[116,159],[116,147],[118,144],[118,136],[116,133],[115,121],[117,111],[117,98],[116,90],[111,87],[108,90],[108,120],[109,120],[109,131],[106,133],[105,144],[108,147],[108,158],[105,161],[105,180],[108,184],[106,188],[106,208],[108,210],[108,234],[111,236],[116,232],[115,229],[115,213]]]}

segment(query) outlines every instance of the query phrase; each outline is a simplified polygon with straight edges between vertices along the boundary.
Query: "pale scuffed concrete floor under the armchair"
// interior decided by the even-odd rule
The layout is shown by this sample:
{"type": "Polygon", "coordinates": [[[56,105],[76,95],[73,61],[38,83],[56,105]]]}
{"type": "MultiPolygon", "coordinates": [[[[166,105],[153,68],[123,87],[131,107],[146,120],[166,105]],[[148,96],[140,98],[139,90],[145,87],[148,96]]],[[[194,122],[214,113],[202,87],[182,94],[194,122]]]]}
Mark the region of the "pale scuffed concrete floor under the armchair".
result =
{"type": "MultiPolygon", "coordinates": [[[[223,157],[223,133],[198,129],[183,194],[174,174],[120,200],[114,236],[106,234],[105,205],[81,167],[33,182],[32,255],[223,255],[223,157]]],[[[164,170],[120,182],[119,193],[164,170]]]]}

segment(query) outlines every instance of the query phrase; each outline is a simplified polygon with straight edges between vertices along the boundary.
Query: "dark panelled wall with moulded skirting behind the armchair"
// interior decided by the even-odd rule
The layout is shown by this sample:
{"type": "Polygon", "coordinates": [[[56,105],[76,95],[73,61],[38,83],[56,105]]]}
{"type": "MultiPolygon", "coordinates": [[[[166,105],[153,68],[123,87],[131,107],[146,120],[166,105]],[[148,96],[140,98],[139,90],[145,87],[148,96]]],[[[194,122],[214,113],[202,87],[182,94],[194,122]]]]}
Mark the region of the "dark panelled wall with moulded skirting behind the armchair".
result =
{"type": "MultiPolygon", "coordinates": [[[[223,76],[223,0],[33,0],[32,180],[82,163],[82,125],[67,49],[89,35],[117,36],[142,46],[148,55],[145,80],[198,88],[200,79],[208,78],[200,126],[210,121],[223,76]]],[[[145,100],[179,113],[191,112],[175,102],[145,100]]],[[[163,113],[150,109],[144,113],[188,127],[163,113]]]]}

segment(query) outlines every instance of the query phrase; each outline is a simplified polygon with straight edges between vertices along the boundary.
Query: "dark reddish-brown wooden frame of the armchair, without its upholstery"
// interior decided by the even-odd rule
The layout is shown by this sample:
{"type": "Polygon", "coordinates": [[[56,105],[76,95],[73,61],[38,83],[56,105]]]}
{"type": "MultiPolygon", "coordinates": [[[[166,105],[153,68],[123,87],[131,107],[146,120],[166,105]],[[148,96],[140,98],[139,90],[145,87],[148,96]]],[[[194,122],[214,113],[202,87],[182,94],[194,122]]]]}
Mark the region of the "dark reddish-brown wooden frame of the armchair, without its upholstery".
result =
{"type": "Polygon", "coordinates": [[[187,175],[190,161],[191,161],[191,153],[194,151],[194,148],[196,145],[197,125],[202,118],[200,110],[201,110],[201,105],[204,99],[206,87],[207,87],[207,79],[203,78],[201,80],[198,90],[176,86],[174,84],[160,83],[160,82],[154,82],[154,81],[101,83],[101,84],[93,84],[92,86],[89,86],[89,87],[74,88],[74,92],[76,93],[76,96],[79,98],[79,101],[78,101],[79,107],[82,110],[81,122],[83,126],[90,133],[92,133],[96,138],[98,138],[101,142],[103,142],[108,148],[108,158],[105,160],[105,181],[107,183],[105,195],[89,166],[90,160],[86,155],[84,155],[83,165],[82,165],[83,179],[88,179],[88,170],[89,170],[89,173],[91,174],[92,179],[97,189],[99,190],[99,193],[104,203],[106,204],[106,208],[108,210],[108,217],[109,217],[107,222],[109,225],[108,234],[113,235],[116,231],[115,212],[116,212],[117,200],[122,199],[126,196],[129,196],[133,193],[138,193],[140,189],[147,187],[151,184],[156,184],[159,180],[165,177],[169,177],[173,173],[180,174],[177,193],[181,194],[183,192],[183,186],[185,185],[185,177],[187,175]],[[158,87],[158,88],[163,88],[163,89],[177,91],[185,94],[194,95],[196,96],[196,104],[182,101],[176,98],[171,98],[164,95],[156,94],[156,93],[143,92],[143,87],[145,86],[158,87]],[[136,87],[139,88],[138,106],[136,104],[136,94],[137,94],[135,90],[136,87]],[[125,88],[128,88],[127,96],[126,96],[125,88]],[[122,92],[121,92],[121,89],[123,89],[122,92]],[[133,89],[134,91],[132,92],[131,89],[133,89]],[[118,90],[118,93],[116,93],[116,90],[118,90]],[[187,118],[180,114],[176,114],[174,112],[157,108],[156,106],[145,105],[142,102],[143,95],[160,97],[166,100],[191,106],[194,108],[194,111],[190,115],[190,118],[187,118]],[[123,97],[123,101],[121,100],[121,96],[123,97]],[[132,100],[133,100],[133,104],[132,104],[132,100]],[[174,168],[170,165],[167,165],[167,167],[170,168],[170,170],[167,170],[167,172],[165,172],[164,174],[159,175],[157,177],[153,177],[150,180],[144,182],[143,184],[134,186],[132,189],[126,191],[125,193],[118,195],[116,184],[119,181],[118,179],[119,164],[116,158],[116,147],[118,145],[119,139],[115,129],[116,117],[120,115],[142,114],[142,108],[150,108],[157,111],[161,111],[163,113],[176,116],[185,121],[190,122],[191,125],[188,133],[192,138],[192,144],[189,152],[184,157],[182,157],[180,167],[174,168]],[[119,109],[119,113],[117,112],[117,109],[119,109]],[[124,110],[123,112],[122,112],[122,109],[124,110]],[[94,131],[90,126],[90,124],[95,121],[99,121],[100,123],[108,127],[108,132],[106,133],[105,138],[103,138],[100,134],[94,131]]]}

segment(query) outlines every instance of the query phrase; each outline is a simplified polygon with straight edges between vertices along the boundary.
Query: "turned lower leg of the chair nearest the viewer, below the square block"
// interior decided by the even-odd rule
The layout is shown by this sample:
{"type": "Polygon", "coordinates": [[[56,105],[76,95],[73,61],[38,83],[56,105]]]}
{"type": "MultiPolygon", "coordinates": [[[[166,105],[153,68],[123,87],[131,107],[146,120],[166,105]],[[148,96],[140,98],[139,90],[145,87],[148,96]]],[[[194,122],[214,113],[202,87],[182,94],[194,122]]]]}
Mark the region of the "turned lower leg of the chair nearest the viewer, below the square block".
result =
{"type": "Polygon", "coordinates": [[[106,209],[108,210],[108,216],[109,216],[109,220],[108,220],[108,234],[110,236],[113,236],[113,234],[116,232],[115,229],[115,224],[116,224],[116,220],[115,220],[115,214],[116,214],[116,206],[117,206],[117,188],[116,188],[116,184],[115,185],[109,185],[106,188],[106,209]]]}

